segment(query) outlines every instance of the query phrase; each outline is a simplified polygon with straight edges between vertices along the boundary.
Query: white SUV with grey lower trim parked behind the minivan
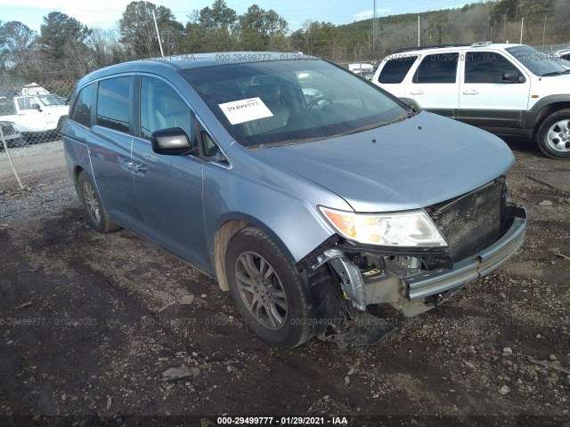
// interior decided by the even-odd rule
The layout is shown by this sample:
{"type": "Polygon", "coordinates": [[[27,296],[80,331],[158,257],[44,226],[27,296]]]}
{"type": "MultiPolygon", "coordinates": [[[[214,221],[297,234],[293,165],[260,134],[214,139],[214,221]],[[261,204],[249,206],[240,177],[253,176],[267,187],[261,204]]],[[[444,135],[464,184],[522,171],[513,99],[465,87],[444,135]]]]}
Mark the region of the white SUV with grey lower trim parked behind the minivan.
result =
{"type": "Polygon", "coordinates": [[[372,82],[414,109],[570,158],[570,62],[554,55],[490,42],[404,49],[382,60],[372,82]]]}

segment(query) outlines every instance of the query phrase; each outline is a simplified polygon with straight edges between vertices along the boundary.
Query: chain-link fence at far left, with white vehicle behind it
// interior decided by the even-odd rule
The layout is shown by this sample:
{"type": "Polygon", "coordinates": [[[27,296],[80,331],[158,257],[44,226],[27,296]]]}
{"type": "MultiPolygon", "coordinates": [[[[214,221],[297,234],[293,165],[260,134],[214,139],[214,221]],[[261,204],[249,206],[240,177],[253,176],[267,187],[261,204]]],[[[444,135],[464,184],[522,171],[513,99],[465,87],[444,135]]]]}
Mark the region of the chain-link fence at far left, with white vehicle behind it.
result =
{"type": "Polygon", "coordinates": [[[61,129],[74,85],[0,85],[0,191],[65,176],[61,129]]]}

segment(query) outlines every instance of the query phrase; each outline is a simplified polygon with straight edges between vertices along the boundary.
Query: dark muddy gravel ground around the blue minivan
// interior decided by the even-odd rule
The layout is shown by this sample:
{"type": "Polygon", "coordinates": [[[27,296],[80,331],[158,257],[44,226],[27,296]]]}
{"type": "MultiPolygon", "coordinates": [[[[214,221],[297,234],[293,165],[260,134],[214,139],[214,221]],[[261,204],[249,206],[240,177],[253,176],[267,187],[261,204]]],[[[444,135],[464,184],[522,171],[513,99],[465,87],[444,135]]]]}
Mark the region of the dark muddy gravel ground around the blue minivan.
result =
{"type": "Polygon", "coordinates": [[[570,425],[570,162],[509,145],[523,249],[436,311],[383,310],[395,334],[342,350],[260,341],[212,279],[130,231],[91,230],[67,178],[4,191],[0,424],[570,425]]]}

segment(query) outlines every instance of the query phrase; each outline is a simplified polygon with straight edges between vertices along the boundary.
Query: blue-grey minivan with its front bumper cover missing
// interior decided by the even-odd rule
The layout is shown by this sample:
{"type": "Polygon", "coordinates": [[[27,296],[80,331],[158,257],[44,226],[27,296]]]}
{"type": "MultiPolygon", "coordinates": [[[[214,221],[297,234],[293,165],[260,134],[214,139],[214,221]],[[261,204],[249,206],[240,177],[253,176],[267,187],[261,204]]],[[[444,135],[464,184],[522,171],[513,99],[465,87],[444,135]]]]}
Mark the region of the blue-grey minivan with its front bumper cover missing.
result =
{"type": "Polygon", "coordinates": [[[503,141],[313,57],[99,69],[77,83],[64,145],[95,230],[126,227],[215,278],[282,347],[378,342],[395,322],[371,306],[436,307],[525,236],[503,141]]]}

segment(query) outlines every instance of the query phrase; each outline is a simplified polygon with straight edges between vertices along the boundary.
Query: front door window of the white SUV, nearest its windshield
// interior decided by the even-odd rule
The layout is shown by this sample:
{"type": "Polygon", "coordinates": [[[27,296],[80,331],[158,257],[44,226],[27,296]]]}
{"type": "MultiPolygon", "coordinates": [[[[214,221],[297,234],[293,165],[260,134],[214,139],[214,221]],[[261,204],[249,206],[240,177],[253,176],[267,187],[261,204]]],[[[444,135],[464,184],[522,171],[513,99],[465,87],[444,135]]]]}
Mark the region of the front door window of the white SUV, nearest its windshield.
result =
{"type": "Polygon", "coordinates": [[[509,60],[496,52],[468,52],[465,61],[465,83],[504,83],[503,74],[516,73],[520,82],[525,77],[509,60]]]}

